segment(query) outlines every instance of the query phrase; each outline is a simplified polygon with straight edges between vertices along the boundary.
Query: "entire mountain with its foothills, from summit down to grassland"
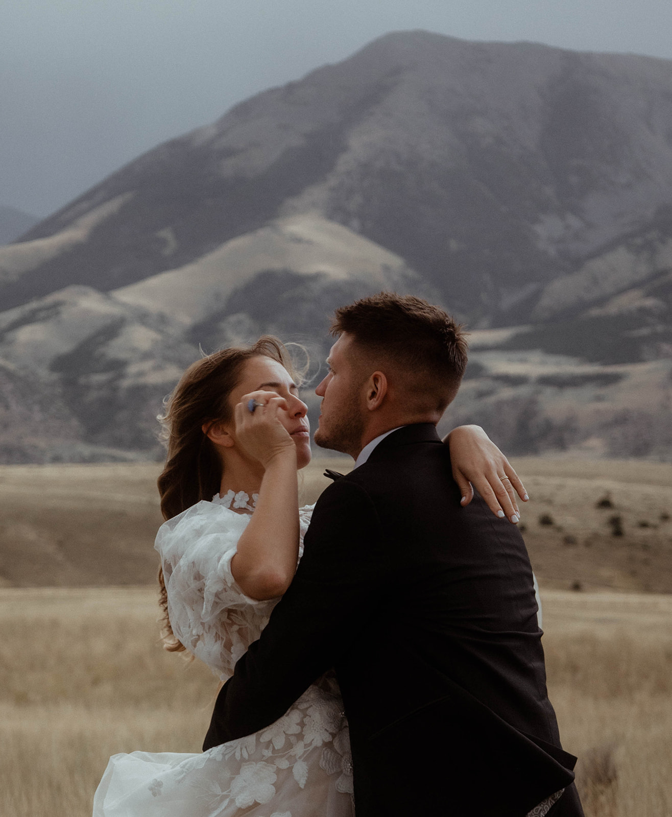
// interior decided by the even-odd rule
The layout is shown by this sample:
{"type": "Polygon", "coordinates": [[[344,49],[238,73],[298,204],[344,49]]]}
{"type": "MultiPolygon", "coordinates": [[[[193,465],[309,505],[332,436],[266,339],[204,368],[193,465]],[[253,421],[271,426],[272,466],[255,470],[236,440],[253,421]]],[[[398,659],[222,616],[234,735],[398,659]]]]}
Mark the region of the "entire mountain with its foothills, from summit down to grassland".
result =
{"type": "Polygon", "coordinates": [[[0,247],[0,360],[70,422],[54,454],[9,407],[0,445],[155,453],[199,346],[271,331],[320,359],[334,306],[393,288],[476,330],[450,420],[667,456],[670,270],[672,61],[388,34],[0,247]]]}

